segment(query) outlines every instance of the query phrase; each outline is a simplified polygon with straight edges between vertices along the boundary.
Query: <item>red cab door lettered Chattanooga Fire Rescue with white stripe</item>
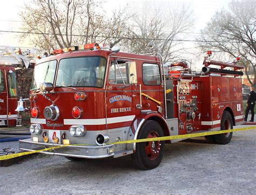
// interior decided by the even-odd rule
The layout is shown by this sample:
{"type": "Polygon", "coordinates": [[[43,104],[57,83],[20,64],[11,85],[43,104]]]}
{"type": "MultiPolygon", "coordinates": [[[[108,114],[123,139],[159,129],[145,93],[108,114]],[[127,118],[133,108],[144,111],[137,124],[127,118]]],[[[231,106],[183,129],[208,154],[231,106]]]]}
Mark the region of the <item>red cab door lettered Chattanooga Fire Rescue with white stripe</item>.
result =
{"type": "Polygon", "coordinates": [[[113,59],[106,81],[107,129],[128,127],[135,117],[136,62],[113,59]]]}

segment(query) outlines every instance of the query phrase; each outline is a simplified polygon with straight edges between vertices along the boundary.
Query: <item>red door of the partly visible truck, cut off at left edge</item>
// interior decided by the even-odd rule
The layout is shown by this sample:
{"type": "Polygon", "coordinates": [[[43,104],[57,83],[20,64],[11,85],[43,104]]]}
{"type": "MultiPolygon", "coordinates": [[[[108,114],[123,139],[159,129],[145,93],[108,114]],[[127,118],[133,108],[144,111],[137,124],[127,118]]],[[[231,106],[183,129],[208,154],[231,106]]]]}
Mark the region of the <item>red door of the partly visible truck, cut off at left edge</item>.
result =
{"type": "Polygon", "coordinates": [[[7,125],[7,90],[5,70],[0,69],[0,126],[7,125]]]}

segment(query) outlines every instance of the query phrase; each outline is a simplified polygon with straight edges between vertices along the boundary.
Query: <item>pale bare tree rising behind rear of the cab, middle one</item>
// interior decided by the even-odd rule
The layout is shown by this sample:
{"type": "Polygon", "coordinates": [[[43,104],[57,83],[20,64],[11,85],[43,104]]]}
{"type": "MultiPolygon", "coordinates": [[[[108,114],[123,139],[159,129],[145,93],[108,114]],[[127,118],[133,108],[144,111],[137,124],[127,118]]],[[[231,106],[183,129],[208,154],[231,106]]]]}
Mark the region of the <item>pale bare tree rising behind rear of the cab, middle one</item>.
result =
{"type": "Polygon", "coordinates": [[[193,12],[190,5],[182,3],[165,3],[164,5],[144,2],[142,7],[134,10],[133,29],[129,51],[149,52],[147,43],[153,42],[156,51],[163,56],[164,62],[182,58],[184,32],[193,25],[193,12]]]}

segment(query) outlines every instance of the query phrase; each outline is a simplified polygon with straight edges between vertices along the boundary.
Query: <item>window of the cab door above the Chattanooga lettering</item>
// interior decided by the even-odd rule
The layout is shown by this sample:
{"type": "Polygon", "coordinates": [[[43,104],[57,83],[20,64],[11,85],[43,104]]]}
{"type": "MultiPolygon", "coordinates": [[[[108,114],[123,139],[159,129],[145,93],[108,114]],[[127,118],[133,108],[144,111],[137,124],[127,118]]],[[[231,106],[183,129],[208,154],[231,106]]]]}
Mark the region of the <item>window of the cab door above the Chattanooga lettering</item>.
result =
{"type": "Polygon", "coordinates": [[[129,83],[137,83],[136,62],[120,60],[112,61],[109,72],[109,83],[125,85],[129,83]]]}

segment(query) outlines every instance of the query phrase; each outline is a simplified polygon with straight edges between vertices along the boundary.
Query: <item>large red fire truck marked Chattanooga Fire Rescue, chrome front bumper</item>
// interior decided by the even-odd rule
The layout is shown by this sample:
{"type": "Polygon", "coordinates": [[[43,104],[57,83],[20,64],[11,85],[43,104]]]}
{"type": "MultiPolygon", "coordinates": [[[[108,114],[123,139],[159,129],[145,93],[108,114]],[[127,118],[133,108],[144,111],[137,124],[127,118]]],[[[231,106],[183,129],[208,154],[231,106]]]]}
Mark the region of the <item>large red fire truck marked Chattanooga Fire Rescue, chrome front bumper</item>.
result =
{"type": "MultiPolygon", "coordinates": [[[[165,74],[158,54],[123,53],[99,44],[53,54],[35,66],[31,138],[20,141],[21,150],[66,145],[41,153],[71,160],[131,154],[138,168],[148,170],[160,164],[165,143],[180,140],[111,143],[232,129],[243,120],[237,77],[242,66],[235,63],[206,57],[200,73],[179,62],[165,74]]],[[[227,144],[231,137],[206,139],[227,144]]]]}

